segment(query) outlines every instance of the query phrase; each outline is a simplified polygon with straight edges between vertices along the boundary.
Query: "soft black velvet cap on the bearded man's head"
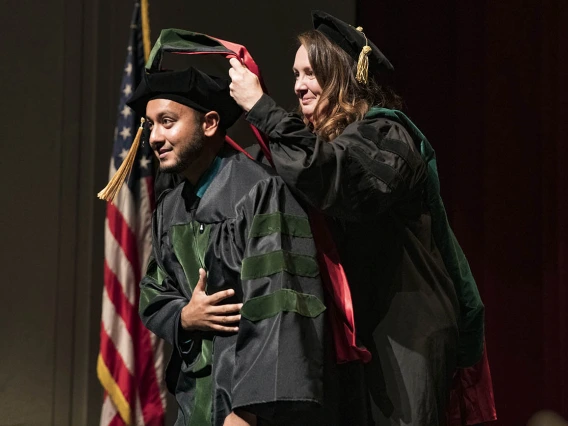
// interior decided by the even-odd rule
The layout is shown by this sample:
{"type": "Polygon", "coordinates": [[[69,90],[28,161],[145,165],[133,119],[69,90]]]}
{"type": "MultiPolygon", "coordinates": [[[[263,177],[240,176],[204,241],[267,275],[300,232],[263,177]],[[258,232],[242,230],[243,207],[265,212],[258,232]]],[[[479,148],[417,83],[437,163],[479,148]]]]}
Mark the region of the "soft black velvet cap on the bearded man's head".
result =
{"type": "Polygon", "coordinates": [[[145,116],[146,105],[152,99],[169,99],[204,113],[217,111],[223,129],[231,127],[243,112],[229,93],[228,80],[193,67],[144,73],[127,105],[145,116]]]}

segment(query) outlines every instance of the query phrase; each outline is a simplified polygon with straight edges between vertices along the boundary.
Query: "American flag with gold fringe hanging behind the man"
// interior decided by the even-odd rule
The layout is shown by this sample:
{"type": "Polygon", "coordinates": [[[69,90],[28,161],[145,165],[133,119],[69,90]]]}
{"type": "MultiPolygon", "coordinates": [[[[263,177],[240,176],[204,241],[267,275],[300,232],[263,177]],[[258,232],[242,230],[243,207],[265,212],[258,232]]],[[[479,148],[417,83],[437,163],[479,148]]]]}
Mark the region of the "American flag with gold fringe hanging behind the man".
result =
{"type": "MultiPolygon", "coordinates": [[[[144,72],[141,10],[137,2],[122,76],[112,177],[126,157],[139,117],[126,106],[144,72]]],[[[101,426],[163,426],[165,389],[162,380],[163,342],[138,316],[141,277],[151,250],[154,209],[154,168],[148,144],[138,150],[127,184],[107,203],[104,290],[97,374],[105,389],[101,426]]]]}

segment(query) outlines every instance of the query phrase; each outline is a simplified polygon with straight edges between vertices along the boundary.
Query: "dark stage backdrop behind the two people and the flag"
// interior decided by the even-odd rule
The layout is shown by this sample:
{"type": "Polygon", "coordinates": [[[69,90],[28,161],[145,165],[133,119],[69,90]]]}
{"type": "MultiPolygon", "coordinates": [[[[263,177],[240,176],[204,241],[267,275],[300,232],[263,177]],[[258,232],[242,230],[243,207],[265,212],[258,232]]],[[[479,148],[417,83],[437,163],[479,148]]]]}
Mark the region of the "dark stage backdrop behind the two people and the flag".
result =
{"type": "MultiPolygon", "coordinates": [[[[0,1],[0,426],[99,424],[95,194],[133,3],[0,1]]],[[[312,8],[364,27],[437,150],[487,307],[495,426],[568,417],[568,0],[150,0],[152,41],[181,27],[243,43],[292,107],[312,8]]]]}

